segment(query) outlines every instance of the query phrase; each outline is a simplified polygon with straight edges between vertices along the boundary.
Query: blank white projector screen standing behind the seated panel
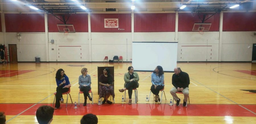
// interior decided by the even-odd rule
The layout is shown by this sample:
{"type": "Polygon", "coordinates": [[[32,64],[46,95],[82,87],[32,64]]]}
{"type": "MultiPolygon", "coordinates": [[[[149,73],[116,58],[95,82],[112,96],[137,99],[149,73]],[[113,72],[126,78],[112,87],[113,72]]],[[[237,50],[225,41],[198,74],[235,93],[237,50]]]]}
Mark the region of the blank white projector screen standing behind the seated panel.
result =
{"type": "Polygon", "coordinates": [[[174,72],[177,66],[177,42],[133,42],[133,68],[152,72],[162,66],[164,72],[174,72]]]}

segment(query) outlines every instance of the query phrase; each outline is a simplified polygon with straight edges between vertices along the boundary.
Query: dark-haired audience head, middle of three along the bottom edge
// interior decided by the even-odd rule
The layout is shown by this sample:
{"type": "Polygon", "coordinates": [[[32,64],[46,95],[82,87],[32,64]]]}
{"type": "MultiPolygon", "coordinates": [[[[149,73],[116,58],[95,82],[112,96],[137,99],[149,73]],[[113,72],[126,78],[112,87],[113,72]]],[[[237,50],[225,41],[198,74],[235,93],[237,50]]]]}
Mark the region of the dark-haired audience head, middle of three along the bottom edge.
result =
{"type": "Polygon", "coordinates": [[[54,108],[51,106],[40,106],[36,110],[36,119],[39,124],[50,124],[53,120],[54,108]]]}

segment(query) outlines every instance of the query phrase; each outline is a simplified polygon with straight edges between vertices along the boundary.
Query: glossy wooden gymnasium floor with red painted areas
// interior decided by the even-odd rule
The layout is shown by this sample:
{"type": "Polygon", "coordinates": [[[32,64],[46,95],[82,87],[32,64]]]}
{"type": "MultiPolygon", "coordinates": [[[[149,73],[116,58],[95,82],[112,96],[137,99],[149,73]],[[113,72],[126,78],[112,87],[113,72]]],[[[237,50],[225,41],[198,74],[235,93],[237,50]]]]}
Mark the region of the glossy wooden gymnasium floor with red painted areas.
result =
{"type": "MultiPolygon", "coordinates": [[[[140,86],[138,88],[138,104],[121,102],[124,93],[123,75],[131,63],[11,63],[1,64],[0,73],[0,111],[7,115],[8,124],[37,123],[35,112],[41,105],[52,106],[56,90],[55,73],[59,68],[65,70],[72,84],[71,98],[78,102],[78,76],[82,68],[88,68],[92,77],[94,104],[87,101],[87,106],[73,109],[68,99],[68,106],[61,104],[55,110],[53,124],[80,123],[82,115],[96,114],[99,124],[103,123],[256,123],[256,64],[250,62],[179,62],[177,66],[187,72],[190,77],[190,104],[183,107],[169,106],[170,89],[173,87],[173,73],[164,73],[166,99],[162,104],[154,102],[153,95],[146,102],[151,86],[151,72],[138,72],[140,86]],[[114,66],[115,72],[115,104],[98,105],[97,66],[114,66]]],[[[136,67],[134,67],[136,70],[136,67]]],[[[154,70],[155,67],[152,67],[154,70]]],[[[161,95],[161,92],[160,92],[161,95]]],[[[182,94],[178,94],[183,99],[182,94]]],[[[83,95],[80,95],[83,103],[83,95]]],[[[64,103],[66,95],[63,95],[64,103]]],[[[174,103],[175,104],[175,103],[174,103]]]]}

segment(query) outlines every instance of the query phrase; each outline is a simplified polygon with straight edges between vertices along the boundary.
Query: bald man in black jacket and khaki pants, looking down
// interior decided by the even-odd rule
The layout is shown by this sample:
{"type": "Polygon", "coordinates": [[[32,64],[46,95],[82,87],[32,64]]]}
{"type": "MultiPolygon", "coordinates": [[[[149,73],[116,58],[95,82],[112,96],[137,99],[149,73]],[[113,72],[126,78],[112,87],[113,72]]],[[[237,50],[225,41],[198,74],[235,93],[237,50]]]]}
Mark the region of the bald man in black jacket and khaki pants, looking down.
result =
{"type": "Polygon", "coordinates": [[[171,89],[170,93],[176,101],[177,106],[179,106],[180,99],[176,95],[176,92],[182,92],[184,94],[183,106],[187,106],[189,82],[189,75],[186,72],[182,72],[179,67],[174,68],[174,74],[172,75],[172,85],[174,87],[171,89]]]}

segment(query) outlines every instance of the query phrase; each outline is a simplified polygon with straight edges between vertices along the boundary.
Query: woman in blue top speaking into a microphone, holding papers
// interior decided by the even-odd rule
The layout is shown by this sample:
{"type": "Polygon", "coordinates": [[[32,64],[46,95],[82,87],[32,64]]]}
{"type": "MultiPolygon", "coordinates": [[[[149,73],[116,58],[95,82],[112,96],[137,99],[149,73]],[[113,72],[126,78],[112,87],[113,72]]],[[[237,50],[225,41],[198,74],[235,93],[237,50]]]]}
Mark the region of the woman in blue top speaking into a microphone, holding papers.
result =
{"type": "Polygon", "coordinates": [[[56,72],[55,79],[57,83],[55,109],[58,109],[60,106],[59,101],[61,101],[61,103],[64,102],[62,98],[62,93],[69,91],[69,87],[71,87],[71,84],[69,83],[69,77],[67,77],[63,69],[59,69],[56,72]]]}

